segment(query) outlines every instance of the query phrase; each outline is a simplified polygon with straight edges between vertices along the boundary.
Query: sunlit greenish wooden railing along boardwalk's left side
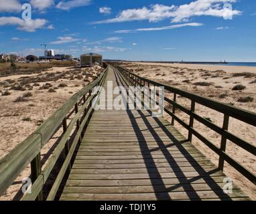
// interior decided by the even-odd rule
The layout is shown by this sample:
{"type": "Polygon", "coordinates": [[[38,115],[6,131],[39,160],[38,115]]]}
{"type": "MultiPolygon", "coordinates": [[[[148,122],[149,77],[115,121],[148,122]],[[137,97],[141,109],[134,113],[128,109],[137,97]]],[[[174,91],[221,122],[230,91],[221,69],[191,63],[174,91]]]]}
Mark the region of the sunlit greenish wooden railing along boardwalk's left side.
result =
{"type": "Polygon", "coordinates": [[[11,150],[7,156],[0,160],[0,195],[3,195],[8,187],[17,179],[27,165],[31,165],[31,193],[23,195],[21,200],[54,200],[60,187],[60,183],[67,171],[70,170],[70,160],[74,154],[75,148],[81,142],[84,128],[88,125],[93,112],[92,100],[97,98],[97,93],[92,93],[95,86],[103,86],[107,76],[108,68],[94,82],[88,84],[70,100],[63,104],[58,110],[48,118],[34,133],[23,140],[16,148],[11,150]],[[70,119],[69,124],[67,120],[70,119]],[[62,132],[58,142],[54,147],[52,155],[48,158],[44,169],[42,169],[41,151],[44,145],[56,134],[62,132]],[[74,137],[71,138],[74,134],[74,137]],[[66,158],[52,188],[48,191],[47,197],[43,195],[43,187],[54,165],[62,153],[66,158]]]}

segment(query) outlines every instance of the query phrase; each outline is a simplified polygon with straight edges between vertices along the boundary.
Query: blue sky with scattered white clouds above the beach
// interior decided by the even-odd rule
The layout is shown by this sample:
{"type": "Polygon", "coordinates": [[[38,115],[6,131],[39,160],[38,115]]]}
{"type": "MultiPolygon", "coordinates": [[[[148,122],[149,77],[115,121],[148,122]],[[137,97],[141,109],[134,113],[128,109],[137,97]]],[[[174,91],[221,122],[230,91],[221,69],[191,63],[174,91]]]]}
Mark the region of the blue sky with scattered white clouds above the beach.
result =
{"type": "Polygon", "coordinates": [[[255,23],[252,0],[0,0],[0,54],[256,62],[255,23]]]}

